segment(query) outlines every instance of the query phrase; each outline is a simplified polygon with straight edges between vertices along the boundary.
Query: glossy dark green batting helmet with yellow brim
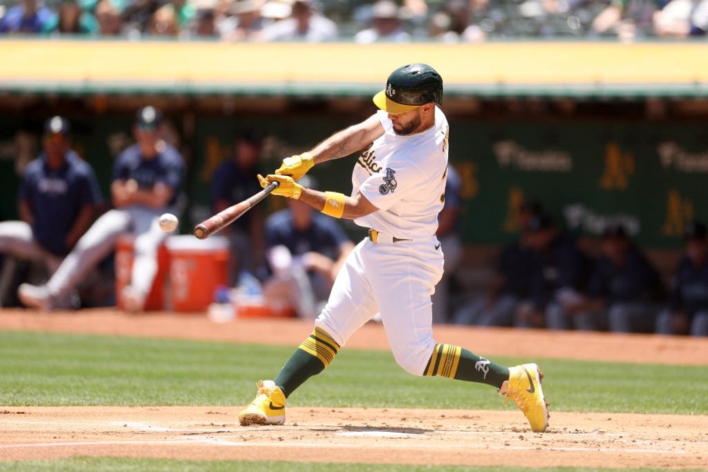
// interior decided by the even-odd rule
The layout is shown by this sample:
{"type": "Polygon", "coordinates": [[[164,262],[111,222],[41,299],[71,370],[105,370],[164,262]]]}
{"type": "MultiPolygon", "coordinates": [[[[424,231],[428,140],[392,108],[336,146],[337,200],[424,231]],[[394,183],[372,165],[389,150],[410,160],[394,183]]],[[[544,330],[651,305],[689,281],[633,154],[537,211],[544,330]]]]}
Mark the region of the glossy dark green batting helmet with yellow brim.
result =
{"type": "Polygon", "coordinates": [[[389,113],[404,113],[426,103],[442,104],[442,77],[428,64],[406,64],[389,75],[374,103],[389,113]]]}

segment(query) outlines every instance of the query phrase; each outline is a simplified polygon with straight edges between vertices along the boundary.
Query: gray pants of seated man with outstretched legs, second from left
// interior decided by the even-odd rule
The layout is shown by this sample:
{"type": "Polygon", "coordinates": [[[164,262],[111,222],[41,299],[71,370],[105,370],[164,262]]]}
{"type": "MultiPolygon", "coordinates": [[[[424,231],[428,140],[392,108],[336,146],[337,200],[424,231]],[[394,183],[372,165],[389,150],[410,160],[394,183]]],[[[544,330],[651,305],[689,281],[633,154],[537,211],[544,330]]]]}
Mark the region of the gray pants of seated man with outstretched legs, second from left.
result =
{"type": "Polygon", "coordinates": [[[132,206],[108,210],[101,215],[47,282],[50,296],[61,298],[71,291],[113,251],[118,237],[130,234],[135,236],[130,285],[142,296],[147,296],[157,273],[157,250],[168,234],[159,226],[159,216],[165,211],[169,210],[132,206]]]}

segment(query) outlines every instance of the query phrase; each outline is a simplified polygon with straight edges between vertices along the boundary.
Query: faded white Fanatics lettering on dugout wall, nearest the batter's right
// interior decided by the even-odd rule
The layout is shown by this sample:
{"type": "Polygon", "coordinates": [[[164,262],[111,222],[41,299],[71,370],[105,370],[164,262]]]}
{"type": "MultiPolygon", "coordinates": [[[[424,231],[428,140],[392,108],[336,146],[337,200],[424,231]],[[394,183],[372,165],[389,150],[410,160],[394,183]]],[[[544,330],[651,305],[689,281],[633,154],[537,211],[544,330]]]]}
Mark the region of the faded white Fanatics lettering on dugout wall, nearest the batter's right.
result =
{"type": "Polygon", "coordinates": [[[502,169],[517,169],[524,172],[571,172],[573,158],[564,151],[552,149],[530,151],[513,140],[495,142],[496,162],[502,169]]]}

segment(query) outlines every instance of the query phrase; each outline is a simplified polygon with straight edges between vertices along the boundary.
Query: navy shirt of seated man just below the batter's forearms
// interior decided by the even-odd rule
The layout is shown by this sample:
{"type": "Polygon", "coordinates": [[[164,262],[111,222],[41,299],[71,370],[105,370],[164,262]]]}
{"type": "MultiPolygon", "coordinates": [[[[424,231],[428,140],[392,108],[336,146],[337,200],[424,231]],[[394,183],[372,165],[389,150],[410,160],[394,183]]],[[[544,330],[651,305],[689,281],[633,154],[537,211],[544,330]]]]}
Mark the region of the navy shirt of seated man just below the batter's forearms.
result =
{"type": "Polygon", "coordinates": [[[280,210],[265,222],[265,242],[268,247],[282,245],[294,256],[319,252],[337,259],[340,247],[348,237],[335,220],[321,213],[312,213],[312,224],[305,231],[295,229],[290,210],[280,210]]]}

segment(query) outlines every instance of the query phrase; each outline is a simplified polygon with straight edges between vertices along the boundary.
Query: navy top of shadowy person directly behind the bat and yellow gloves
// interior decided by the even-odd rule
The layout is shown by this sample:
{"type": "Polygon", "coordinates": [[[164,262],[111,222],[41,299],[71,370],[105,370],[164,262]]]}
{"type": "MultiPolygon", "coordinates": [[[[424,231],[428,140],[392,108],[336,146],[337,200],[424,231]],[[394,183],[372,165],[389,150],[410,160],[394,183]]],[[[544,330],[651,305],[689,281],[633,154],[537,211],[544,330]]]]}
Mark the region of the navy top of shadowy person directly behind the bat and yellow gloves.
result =
{"type": "MultiPolygon", "coordinates": [[[[225,200],[229,202],[229,205],[235,205],[261,191],[256,174],[258,174],[256,169],[253,169],[252,172],[244,172],[234,159],[227,159],[219,164],[211,181],[210,203],[212,211],[216,212],[215,206],[219,200],[225,200]]],[[[252,219],[253,213],[247,211],[241,218],[234,221],[233,225],[246,231],[251,226],[252,219]]]]}

